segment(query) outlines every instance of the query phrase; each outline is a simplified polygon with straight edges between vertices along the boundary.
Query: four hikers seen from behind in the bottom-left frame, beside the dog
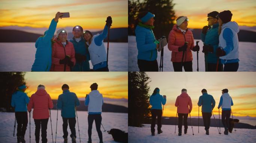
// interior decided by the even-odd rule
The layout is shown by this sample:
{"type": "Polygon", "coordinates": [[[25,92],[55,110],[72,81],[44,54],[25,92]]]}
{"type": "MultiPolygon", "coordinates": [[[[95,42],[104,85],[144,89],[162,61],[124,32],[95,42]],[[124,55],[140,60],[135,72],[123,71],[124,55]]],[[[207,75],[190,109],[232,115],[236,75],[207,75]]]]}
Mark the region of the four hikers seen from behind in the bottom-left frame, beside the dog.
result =
{"type": "MultiPolygon", "coordinates": [[[[24,93],[27,87],[21,85],[12,95],[12,107],[15,107],[15,118],[17,120],[17,141],[25,143],[25,132],[28,124],[28,114],[33,109],[33,118],[35,123],[35,137],[36,143],[39,143],[40,128],[42,143],[47,143],[47,124],[50,117],[49,109],[54,107],[51,96],[46,92],[44,85],[39,85],[37,91],[28,98],[24,93]]],[[[57,101],[57,109],[61,109],[61,117],[63,119],[63,138],[64,143],[67,143],[69,124],[71,130],[72,143],[76,143],[76,107],[80,105],[80,101],[76,94],[69,91],[69,86],[64,84],[62,87],[63,93],[59,95],[57,101]]],[[[103,137],[100,130],[101,127],[101,112],[103,105],[103,96],[97,90],[97,83],[93,83],[91,86],[91,92],[86,95],[85,106],[88,106],[88,143],[92,142],[92,123],[95,120],[96,130],[100,139],[100,143],[103,143],[103,137]]],[[[51,111],[50,111],[51,113],[51,111]]],[[[58,118],[58,117],[57,117],[58,118]]]]}

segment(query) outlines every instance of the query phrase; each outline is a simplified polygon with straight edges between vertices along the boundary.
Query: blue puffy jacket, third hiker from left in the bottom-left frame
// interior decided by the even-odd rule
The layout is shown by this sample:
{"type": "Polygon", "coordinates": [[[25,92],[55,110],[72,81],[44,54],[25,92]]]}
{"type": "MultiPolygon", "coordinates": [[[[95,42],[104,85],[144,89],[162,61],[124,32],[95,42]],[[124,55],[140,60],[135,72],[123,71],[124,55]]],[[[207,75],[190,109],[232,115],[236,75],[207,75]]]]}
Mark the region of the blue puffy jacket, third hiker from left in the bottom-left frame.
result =
{"type": "Polygon", "coordinates": [[[76,117],[75,107],[80,105],[80,101],[76,96],[76,93],[64,90],[58,97],[57,108],[61,109],[61,116],[63,118],[76,117]]]}

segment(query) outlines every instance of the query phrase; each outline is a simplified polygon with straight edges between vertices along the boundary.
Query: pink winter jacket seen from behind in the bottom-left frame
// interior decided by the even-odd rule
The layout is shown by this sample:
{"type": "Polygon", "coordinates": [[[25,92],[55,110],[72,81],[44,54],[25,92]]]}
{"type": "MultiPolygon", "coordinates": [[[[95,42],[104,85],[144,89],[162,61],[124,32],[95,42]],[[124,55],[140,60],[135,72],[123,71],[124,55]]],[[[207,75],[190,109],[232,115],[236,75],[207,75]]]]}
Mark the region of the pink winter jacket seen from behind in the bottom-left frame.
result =
{"type": "Polygon", "coordinates": [[[30,97],[28,103],[28,111],[33,110],[34,119],[47,119],[50,117],[49,108],[53,108],[53,103],[50,95],[44,90],[39,89],[30,97]]]}

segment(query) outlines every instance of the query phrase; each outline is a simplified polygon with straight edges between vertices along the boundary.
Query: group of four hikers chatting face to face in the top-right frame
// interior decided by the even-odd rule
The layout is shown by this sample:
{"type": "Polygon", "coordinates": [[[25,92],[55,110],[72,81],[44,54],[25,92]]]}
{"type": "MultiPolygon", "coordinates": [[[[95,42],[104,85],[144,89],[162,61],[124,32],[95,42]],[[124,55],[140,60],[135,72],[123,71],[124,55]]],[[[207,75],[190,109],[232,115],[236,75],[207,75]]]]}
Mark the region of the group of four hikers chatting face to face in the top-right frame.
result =
{"type": "MultiPolygon", "coordinates": [[[[138,14],[135,35],[140,71],[158,71],[156,58],[157,50],[161,47],[152,30],[154,17],[155,15],[150,12],[138,14]]],[[[231,11],[213,11],[208,13],[207,17],[208,26],[204,26],[201,33],[201,40],[204,42],[202,53],[205,55],[205,71],[237,71],[239,27],[236,22],[231,22],[231,11]]],[[[179,16],[168,36],[168,49],[172,51],[174,71],[182,71],[183,67],[185,71],[192,71],[192,51],[198,52],[200,49],[194,44],[188,22],[186,16],[179,16]]]]}

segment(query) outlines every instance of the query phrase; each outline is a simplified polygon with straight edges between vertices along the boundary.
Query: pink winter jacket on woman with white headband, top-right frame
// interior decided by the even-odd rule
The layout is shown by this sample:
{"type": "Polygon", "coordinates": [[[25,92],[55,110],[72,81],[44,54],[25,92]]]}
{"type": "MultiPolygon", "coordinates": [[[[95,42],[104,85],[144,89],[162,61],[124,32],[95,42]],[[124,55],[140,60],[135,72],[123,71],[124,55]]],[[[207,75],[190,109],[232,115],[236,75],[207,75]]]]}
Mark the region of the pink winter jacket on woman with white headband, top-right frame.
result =
{"type": "Polygon", "coordinates": [[[192,61],[193,57],[191,50],[193,49],[193,47],[195,47],[193,34],[190,30],[187,29],[185,35],[183,35],[183,32],[181,32],[180,29],[177,28],[177,25],[174,25],[168,36],[168,49],[172,51],[171,61],[181,62],[183,52],[179,52],[178,48],[182,47],[185,42],[188,42],[188,48],[185,52],[183,62],[192,61]]]}

